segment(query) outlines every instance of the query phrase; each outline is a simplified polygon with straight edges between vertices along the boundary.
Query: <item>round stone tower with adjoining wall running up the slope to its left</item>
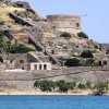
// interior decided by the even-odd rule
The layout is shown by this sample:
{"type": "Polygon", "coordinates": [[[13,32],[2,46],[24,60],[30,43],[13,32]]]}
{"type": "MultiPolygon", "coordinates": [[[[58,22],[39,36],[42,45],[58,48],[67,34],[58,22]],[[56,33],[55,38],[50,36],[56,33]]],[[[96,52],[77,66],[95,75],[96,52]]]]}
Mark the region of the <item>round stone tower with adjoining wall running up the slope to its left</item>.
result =
{"type": "Polygon", "coordinates": [[[41,36],[44,37],[56,37],[57,33],[59,34],[60,32],[68,32],[75,35],[81,32],[81,16],[78,15],[47,15],[46,19],[40,19],[36,22],[28,22],[26,19],[17,16],[15,13],[10,13],[10,16],[21,25],[38,28],[38,35],[43,33],[41,36]]]}

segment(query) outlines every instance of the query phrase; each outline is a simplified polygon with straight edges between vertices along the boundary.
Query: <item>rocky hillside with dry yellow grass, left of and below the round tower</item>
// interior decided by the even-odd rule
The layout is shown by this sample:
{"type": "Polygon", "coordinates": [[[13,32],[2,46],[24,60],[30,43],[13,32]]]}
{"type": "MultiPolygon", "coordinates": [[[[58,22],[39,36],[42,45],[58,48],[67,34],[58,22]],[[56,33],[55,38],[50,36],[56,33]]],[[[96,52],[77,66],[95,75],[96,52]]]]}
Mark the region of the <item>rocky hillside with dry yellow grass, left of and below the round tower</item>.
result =
{"type": "Polygon", "coordinates": [[[64,33],[51,27],[50,22],[37,14],[29,3],[23,1],[0,1],[0,32],[8,36],[12,44],[22,44],[35,50],[35,47],[29,45],[31,37],[56,58],[80,57],[84,50],[92,50],[97,55],[100,52],[99,44],[84,37],[85,34],[82,32],[80,35],[65,33],[70,37],[61,37],[64,33]]]}

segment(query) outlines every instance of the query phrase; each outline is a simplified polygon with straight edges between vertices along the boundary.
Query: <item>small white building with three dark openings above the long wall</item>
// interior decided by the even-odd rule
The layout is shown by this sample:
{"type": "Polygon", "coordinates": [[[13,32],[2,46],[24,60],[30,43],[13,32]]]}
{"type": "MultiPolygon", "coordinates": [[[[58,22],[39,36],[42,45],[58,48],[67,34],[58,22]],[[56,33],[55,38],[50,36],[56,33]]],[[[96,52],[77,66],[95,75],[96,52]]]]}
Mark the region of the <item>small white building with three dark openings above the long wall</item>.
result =
{"type": "Polygon", "coordinates": [[[31,71],[34,70],[51,70],[51,64],[49,62],[31,63],[31,71]]]}

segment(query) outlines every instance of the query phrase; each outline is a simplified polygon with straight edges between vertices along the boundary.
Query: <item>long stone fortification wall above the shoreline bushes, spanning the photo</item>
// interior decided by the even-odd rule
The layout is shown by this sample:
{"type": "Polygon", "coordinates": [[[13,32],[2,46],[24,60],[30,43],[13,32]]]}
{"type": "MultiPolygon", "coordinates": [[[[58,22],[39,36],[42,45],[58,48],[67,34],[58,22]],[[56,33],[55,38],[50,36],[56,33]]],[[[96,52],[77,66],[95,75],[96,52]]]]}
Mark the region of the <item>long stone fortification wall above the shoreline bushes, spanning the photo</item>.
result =
{"type": "Polygon", "coordinates": [[[36,80],[65,80],[81,83],[109,81],[109,69],[72,68],[33,72],[0,72],[0,88],[32,89],[36,80]]]}

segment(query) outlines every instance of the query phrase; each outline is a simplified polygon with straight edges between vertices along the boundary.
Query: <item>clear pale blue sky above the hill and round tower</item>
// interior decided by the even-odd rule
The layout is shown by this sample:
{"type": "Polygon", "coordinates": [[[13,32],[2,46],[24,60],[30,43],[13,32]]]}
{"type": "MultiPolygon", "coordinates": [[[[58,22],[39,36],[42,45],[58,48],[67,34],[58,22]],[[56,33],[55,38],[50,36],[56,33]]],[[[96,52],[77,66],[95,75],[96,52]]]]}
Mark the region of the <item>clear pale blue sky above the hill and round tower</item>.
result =
{"type": "Polygon", "coordinates": [[[94,39],[99,43],[109,43],[109,0],[22,1],[28,1],[32,8],[44,17],[48,14],[81,15],[82,31],[88,35],[89,39],[94,39]]]}

